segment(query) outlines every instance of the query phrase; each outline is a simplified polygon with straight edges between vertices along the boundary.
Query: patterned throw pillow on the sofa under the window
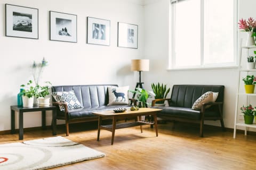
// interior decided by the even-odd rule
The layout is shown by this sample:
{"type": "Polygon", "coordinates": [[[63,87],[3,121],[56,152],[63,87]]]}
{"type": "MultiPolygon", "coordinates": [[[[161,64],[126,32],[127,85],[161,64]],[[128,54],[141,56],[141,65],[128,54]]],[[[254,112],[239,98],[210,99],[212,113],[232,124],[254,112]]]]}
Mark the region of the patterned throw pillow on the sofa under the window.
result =
{"type": "MultiPolygon", "coordinates": [[[[212,91],[207,91],[205,94],[203,94],[201,97],[199,97],[195,103],[192,106],[193,110],[199,110],[202,107],[203,103],[211,103],[216,101],[218,97],[218,92],[212,92],[212,91]]],[[[210,106],[206,106],[206,108],[209,108],[210,106]]]]}

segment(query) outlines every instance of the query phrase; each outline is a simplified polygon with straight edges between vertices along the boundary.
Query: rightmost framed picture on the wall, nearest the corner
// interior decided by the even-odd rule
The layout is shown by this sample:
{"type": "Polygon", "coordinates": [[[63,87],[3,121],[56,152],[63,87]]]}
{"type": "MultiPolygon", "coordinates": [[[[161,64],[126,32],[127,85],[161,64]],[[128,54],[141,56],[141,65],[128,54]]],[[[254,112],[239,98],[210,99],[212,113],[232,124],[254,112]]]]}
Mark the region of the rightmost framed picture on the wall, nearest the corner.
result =
{"type": "Polygon", "coordinates": [[[138,48],[138,25],[118,22],[117,46],[138,48]]]}

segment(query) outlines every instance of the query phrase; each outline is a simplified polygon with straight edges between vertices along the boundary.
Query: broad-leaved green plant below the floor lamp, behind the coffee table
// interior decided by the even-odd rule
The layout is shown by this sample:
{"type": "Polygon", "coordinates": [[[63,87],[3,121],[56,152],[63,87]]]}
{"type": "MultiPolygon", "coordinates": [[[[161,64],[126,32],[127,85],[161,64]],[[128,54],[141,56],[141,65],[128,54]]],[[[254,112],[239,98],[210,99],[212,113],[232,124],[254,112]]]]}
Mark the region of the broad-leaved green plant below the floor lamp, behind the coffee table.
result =
{"type": "Polygon", "coordinates": [[[136,88],[136,90],[129,90],[129,91],[132,92],[133,94],[136,94],[138,101],[142,103],[141,107],[146,107],[146,104],[150,105],[149,103],[147,103],[147,99],[149,97],[155,96],[153,91],[146,91],[145,89],[141,89],[141,88],[136,88]]]}

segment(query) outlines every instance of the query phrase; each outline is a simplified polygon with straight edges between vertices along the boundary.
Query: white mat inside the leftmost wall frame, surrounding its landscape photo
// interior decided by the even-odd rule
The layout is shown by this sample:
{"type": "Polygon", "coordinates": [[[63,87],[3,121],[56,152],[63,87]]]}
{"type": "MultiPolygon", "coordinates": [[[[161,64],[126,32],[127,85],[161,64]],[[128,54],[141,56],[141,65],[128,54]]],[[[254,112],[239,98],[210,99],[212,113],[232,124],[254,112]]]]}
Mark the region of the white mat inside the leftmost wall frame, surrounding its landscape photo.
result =
{"type": "Polygon", "coordinates": [[[6,36],[38,39],[38,9],[6,4],[6,36]],[[32,15],[32,32],[13,30],[13,12],[32,15]]]}

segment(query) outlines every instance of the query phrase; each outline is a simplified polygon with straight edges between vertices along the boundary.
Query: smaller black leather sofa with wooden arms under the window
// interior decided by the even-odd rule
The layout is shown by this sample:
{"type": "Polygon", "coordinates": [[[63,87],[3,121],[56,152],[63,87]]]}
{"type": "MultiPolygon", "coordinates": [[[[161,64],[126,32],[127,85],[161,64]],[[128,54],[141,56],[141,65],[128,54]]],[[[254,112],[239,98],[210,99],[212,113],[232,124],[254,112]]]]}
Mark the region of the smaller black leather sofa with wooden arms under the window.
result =
{"type": "Polygon", "coordinates": [[[200,136],[203,137],[203,126],[205,120],[220,120],[222,130],[225,126],[222,118],[222,107],[224,97],[224,86],[219,85],[174,85],[171,98],[155,99],[152,101],[152,107],[155,107],[156,101],[167,100],[169,106],[157,108],[163,109],[157,117],[167,120],[200,123],[200,136]],[[219,92],[218,98],[214,103],[203,104],[201,110],[191,109],[195,101],[205,92],[219,92]],[[207,108],[206,106],[211,106],[207,108]]]}

